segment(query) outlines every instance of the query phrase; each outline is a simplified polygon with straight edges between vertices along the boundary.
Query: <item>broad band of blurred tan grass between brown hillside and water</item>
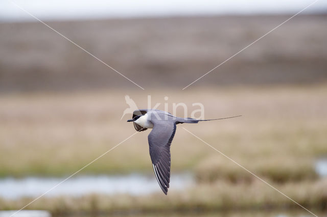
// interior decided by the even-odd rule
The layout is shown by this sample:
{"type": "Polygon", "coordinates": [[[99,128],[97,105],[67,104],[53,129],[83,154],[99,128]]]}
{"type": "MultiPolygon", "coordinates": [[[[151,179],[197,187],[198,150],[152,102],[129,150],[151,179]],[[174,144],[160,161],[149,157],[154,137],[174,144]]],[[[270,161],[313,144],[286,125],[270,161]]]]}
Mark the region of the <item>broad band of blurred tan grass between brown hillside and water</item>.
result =
{"type": "MultiPolygon", "coordinates": [[[[169,110],[173,102],[185,102],[189,115],[192,103],[201,102],[206,118],[243,115],[178,125],[171,151],[173,171],[193,170],[201,162],[198,174],[203,180],[212,179],[206,172],[229,179],[242,174],[185,127],[249,169],[286,181],[314,178],[313,160],[327,154],[326,91],[326,86],[218,88],[135,91],[131,97],[139,107],[147,107],[151,94],[152,106],[161,102],[159,108],[164,109],[164,96],[169,96],[169,110]],[[220,168],[216,175],[211,164],[220,168]]],[[[1,95],[0,174],[64,175],[83,167],[134,133],[125,121],[129,117],[120,120],[127,106],[124,95],[120,91],[1,95]]],[[[178,114],[183,115],[182,110],[178,114]]],[[[151,172],[148,131],[134,135],[81,173],[151,172]]]]}

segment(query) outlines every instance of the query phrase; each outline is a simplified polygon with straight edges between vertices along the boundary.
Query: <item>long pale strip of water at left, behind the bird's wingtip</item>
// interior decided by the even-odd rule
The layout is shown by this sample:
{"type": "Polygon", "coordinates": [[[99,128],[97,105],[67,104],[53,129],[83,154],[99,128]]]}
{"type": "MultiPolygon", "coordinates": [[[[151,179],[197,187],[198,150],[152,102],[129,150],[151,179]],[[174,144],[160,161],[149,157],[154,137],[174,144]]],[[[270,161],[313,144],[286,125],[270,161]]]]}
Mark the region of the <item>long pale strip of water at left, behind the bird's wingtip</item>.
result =
{"type": "MultiPolygon", "coordinates": [[[[65,178],[26,177],[0,179],[0,197],[17,199],[20,197],[37,197],[60,183],[65,178]]],[[[172,174],[170,189],[183,189],[194,181],[191,174],[172,174]]],[[[147,195],[160,192],[161,189],[154,175],[95,175],[76,176],[67,179],[50,191],[45,197],[81,196],[87,194],[130,194],[147,195]]]]}

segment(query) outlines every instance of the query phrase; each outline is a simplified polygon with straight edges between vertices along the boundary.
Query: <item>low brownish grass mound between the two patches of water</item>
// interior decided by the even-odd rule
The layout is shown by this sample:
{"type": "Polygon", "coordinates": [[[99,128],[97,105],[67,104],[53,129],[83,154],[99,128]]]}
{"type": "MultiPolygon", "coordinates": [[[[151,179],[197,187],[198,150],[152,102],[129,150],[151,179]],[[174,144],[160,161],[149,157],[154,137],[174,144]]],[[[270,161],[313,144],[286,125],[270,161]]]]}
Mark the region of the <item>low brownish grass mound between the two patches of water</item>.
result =
{"type": "MultiPolygon", "coordinates": [[[[273,182],[298,182],[306,179],[314,180],[318,177],[313,167],[314,161],[308,159],[255,157],[250,161],[242,158],[238,163],[259,177],[273,182]]],[[[219,179],[242,183],[252,182],[256,178],[222,157],[212,156],[200,162],[196,170],[198,182],[214,182],[219,179]]]]}

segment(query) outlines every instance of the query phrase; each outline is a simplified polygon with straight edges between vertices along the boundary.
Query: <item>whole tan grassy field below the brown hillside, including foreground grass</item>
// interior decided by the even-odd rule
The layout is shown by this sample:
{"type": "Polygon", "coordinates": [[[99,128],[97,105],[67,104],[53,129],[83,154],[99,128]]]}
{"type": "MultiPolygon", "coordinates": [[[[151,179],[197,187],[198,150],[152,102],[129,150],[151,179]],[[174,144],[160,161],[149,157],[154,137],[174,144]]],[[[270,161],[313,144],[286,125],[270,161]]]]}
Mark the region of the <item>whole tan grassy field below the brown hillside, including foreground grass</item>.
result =
{"type": "MultiPolygon", "coordinates": [[[[103,90],[71,93],[0,95],[1,176],[65,176],[88,164],[135,132],[120,120],[128,92],[103,90]]],[[[191,171],[197,183],[182,192],[132,197],[91,195],[41,198],[29,208],[53,213],[122,210],[224,210],[291,208],[296,204],[275,192],[229,159],[236,160],[300,204],[327,207],[327,180],[314,161],[327,155],[327,85],[192,88],[133,91],[140,108],[161,102],[201,102],[205,118],[241,118],[178,125],[171,147],[172,172],[191,171]],[[168,96],[166,101],[164,97],[168,96]]],[[[194,107],[197,109],[197,107],[194,107]]],[[[178,115],[183,116],[182,110],[178,115]]],[[[152,173],[148,131],[104,155],[79,174],[152,173]]],[[[172,183],[173,184],[173,183],[172,183]]],[[[0,200],[3,209],[20,208],[30,199],[0,200]]]]}

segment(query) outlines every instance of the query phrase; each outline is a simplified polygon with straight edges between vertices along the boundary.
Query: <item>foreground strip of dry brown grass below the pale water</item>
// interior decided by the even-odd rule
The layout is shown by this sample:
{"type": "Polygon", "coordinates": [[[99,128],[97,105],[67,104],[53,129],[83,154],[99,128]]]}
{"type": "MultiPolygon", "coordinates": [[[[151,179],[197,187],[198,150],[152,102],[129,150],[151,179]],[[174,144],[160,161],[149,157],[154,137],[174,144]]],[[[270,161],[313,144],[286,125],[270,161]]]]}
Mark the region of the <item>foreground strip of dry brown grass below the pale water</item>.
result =
{"type": "MultiPolygon", "coordinates": [[[[306,181],[303,183],[275,184],[275,187],[305,206],[317,211],[327,207],[327,180],[306,181]]],[[[17,209],[31,198],[17,201],[1,201],[3,209],[17,209]]],[[[54,215],[71,213],[151,213],[151,212],[207,212],[226,210],[269,210],[299,208],[285,196],[274,191],[261,181],[251,184],[232,184],[218,181],[212,184],[197,184],[182,192],[171,192],[168,196],[130,195],[88,195],[83,197],[42,197],[29,206],[29,209],[46,209],[54,215]]],[[[301,210],[301,209],[300,209],[301,210]]],[[[320,212],[320,211],[319,211],[320,212]]],[[[304,214],[309,214],[304,212],[304,214]]]]}

